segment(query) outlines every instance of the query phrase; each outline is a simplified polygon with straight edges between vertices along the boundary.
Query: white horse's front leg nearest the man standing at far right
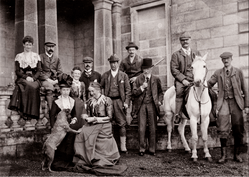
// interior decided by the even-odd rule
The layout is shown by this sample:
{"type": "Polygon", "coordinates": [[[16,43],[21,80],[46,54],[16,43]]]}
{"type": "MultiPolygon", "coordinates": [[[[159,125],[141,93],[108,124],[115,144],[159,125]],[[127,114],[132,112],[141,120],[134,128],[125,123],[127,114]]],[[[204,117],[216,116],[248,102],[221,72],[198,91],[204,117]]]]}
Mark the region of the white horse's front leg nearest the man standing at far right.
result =
{"type": "Polygon", "coordinates": [[[207,158],[209,162],[212,162],[212,158],[208,150],[208,142],[207,142],[208,141],[208,125],[209,125],[209,116],[207,116],[205,119],[202,120],[201,134],[202,134],[205,158],[207,158]]]}

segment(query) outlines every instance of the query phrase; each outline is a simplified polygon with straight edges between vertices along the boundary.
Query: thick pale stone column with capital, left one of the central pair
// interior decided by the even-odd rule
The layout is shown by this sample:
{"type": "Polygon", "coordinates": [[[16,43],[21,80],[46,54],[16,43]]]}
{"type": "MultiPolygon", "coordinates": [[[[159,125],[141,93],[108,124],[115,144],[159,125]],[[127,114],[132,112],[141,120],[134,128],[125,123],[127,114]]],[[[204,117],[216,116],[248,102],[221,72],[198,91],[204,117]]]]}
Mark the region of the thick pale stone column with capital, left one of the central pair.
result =
{"type": "Polygon", "coordinates": [[[92,0],[94,5],[94,69],[101,74],[108,70],[113,54],[111,0],[92,0]]]}

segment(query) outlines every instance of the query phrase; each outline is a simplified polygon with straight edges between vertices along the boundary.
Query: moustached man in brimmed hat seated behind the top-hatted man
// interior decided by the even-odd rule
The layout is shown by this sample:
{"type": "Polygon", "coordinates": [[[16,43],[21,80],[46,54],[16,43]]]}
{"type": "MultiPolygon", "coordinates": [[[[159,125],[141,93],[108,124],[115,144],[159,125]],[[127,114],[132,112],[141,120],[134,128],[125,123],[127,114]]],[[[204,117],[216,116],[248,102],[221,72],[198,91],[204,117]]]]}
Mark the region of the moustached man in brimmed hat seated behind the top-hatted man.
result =
{"type": "MultiPolygon", "coordinates": [[[[132,89],[132,85],[136,80],[137,76],[139,76],[142,73],[141,66],[143,64],[143,59],[137,55],[138,46],[134,42],[129,42],[128,46],[126,46],[125,48],[129,55],[121,61],[119,65],[119,70],[125,72],[128,75],[132,89]]],[[[134,114],[134,104],[133,104],[134,99],[135,97],[132,96],[131,98],[132,110],[130,111],[129,109],[129,111],[127,112],[127,113],[131,112],[131,115],[127,116],[133,117],[133,123],[137,121],[136,119],[137,116],[134,114]]]]}

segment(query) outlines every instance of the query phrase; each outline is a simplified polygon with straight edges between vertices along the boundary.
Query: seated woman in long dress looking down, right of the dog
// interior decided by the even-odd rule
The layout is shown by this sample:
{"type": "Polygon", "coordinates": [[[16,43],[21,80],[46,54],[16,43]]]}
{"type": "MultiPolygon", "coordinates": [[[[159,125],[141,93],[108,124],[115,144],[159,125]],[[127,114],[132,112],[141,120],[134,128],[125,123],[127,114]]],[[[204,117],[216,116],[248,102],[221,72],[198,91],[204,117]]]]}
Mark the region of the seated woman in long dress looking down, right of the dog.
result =
{"type": "MultiPolygon", "coordinates": [[[[112,101],[101,94],[101,86],[97,82],[90,83],[89,92],[93,97],[87,101],[87,115],[83,115],[88,123],[76,135],[74,142],[74,169],[78,172],[105,169],[102,174],[113,174],[114,168],[111,167],[118,162],[120,154],[112,134],[112,101]]],[[[125,169],[126,166],[115,169],[114,174],[125,169]]]]}

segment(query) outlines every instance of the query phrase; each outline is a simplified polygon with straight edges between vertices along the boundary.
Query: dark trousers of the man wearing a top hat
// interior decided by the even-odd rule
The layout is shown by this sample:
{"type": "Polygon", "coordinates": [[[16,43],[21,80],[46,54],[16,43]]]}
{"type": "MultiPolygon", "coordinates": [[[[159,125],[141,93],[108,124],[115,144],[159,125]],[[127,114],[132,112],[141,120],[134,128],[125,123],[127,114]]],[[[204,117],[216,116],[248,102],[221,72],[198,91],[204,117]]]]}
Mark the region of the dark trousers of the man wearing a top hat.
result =
{"type": "Polygon", "coordinates": [[[142,104],[138,113],[139,126],[139,152],[146,149],[145,132],[146,126],[149,127],[149,151],[156,151],[156,124],[157,115],[154,103],[142,104]]]}

